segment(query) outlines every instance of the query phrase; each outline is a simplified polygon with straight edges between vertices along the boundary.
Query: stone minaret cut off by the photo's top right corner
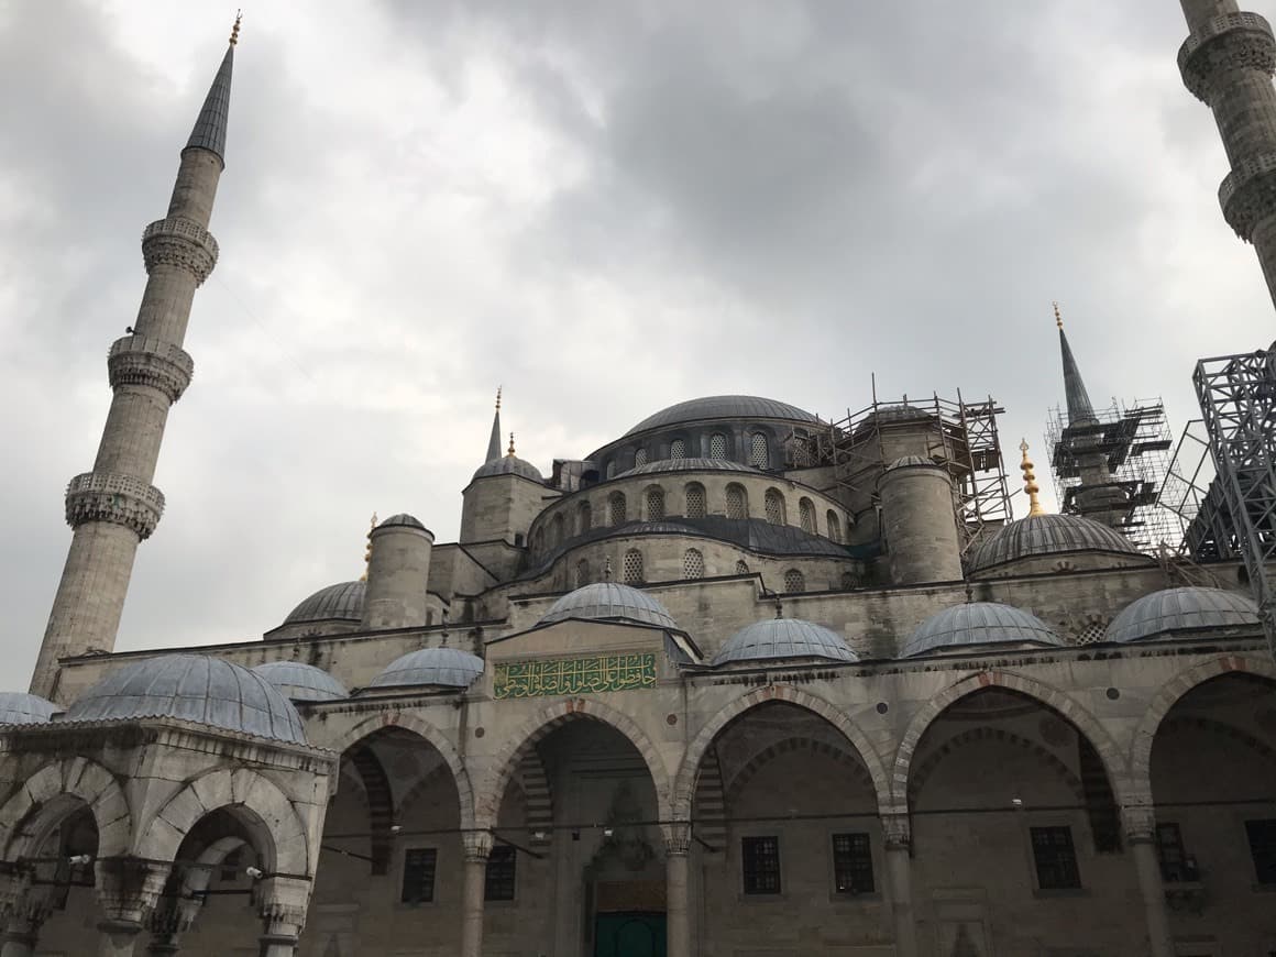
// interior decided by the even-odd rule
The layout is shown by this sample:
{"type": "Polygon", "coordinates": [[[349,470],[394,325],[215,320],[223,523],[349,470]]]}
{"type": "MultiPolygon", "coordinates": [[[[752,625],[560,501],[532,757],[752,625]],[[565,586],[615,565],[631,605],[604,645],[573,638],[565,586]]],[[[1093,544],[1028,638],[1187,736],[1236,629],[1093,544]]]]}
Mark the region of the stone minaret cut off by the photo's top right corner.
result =
{"type": "Polygon", "coordinates": [[[1231,165],[1219,186],[1228,225],[1258,250],[1276,299],[1276,41],[1257,13],[1235,0],[1182,0],[1188,38],[1183,83],[1213,111],[1231,165]]]}

